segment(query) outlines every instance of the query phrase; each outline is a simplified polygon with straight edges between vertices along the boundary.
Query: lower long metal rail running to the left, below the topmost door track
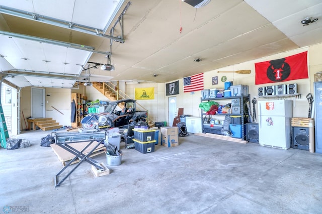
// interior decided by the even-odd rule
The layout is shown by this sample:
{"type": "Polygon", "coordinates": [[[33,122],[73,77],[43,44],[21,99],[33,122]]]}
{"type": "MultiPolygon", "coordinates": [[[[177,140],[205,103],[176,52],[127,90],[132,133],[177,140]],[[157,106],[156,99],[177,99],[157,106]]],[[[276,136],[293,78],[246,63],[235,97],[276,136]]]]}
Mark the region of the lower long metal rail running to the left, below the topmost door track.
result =
{"type": "Polygon", "coordinates": [[[83,51],[90,51],[90,52],[99,53],[99,54],[111,55],[110,52],[96,51],[94,47],[87,46],[87,45],[79,45],[79,44],[75,44],[75,43],[61,42],[61,41],[52,40],[52,39],[44,39],[41,37],[11,33],[8,31],[0,31],[0,34],[5,35],[5,36],[9,36],[9,37],[28,39],[28,40],[32,40],[32,41],[36,41],[36,42],[43,42],[43,43],[47,43],[47,44],[59,45],[59,46],[79,49],[79,50],[83,50],[83,51]]]}

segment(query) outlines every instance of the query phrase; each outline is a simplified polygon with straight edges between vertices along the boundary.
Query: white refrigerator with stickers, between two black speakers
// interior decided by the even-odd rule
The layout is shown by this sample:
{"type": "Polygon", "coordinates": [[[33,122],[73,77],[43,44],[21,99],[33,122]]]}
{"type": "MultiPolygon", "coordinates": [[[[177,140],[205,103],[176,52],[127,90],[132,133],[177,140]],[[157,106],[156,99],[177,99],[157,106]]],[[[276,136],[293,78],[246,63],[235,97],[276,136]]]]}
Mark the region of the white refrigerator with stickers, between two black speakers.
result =
{"type": "Polygon", "coordinates": [[[258,111],[260,145],[289,149],[293,116],[292,100],[258,101],[258,111]]]}

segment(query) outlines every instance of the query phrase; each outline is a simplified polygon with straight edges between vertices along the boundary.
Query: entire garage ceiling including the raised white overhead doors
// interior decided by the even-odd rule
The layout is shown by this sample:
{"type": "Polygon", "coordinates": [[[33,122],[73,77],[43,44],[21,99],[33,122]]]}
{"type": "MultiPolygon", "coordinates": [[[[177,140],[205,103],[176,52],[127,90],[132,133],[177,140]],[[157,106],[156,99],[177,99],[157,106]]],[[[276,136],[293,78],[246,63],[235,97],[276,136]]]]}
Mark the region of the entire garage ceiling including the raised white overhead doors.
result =
{"type": "Polygon", "coordinates": [[[18,87],[169,82],[322,42],[320,0],[212,0],[199,9],[180,0],[0,0],[0,7],[0,72],[18,87]],[[318,20],[303,26],[305,18],[318,20]],[[110,39],[122,29],[124,43],[110,39]],[[109,54],[115,70],[101,70],[109,54]]]}

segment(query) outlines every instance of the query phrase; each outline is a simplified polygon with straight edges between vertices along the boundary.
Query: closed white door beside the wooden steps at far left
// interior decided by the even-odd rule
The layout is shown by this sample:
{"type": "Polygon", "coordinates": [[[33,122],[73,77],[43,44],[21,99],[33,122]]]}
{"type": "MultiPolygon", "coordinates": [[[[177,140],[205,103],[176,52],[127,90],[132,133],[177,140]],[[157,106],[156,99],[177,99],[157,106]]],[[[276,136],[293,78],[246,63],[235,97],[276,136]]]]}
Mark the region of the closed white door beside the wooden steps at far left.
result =
{"type": "Polygon", "coordinates": [[[45,89],[31,88],[31,117],[45,117],[45,89]]]}

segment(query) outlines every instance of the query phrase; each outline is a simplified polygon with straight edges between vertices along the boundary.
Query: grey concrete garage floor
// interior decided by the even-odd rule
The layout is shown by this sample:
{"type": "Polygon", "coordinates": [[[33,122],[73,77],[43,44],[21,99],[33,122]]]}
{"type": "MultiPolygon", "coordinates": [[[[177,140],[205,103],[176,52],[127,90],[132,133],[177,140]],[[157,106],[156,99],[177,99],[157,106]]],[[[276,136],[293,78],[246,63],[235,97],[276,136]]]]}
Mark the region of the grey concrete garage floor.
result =
{"type": "MultiPolygon", "coordinates": [[[[60,132],[60,131],[59,131],[60,132]]],[[[191,134],[180,145],[142,154],[124,149],[122,164],[95,177],[82,163],[59,187],[62,164],[27,131],[24,149],[0,149],[0,208],[30,213],[322,213],[322,155],[191,134]],[[19,210],[20,208],[20,210],[19,210]]],[[[94,158],[106,163],[105,154],[94,158]]],[[[72,169],[74,165],[68,167],[72,169]]],[[[14,212],[12,212],[14,213],[14,212]]]]}

